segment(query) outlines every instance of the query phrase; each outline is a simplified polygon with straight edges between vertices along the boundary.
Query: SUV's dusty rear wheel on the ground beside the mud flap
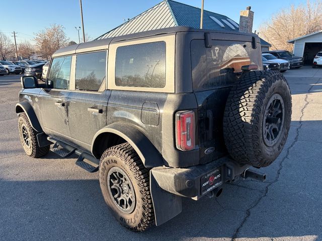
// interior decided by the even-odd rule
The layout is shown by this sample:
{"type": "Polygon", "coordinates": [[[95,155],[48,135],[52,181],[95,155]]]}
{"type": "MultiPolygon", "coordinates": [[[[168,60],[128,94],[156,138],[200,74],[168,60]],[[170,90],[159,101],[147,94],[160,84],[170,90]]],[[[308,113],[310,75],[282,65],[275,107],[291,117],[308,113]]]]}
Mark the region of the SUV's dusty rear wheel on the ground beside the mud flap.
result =
{"type": "Polygon", "coordinates": [[[124,143],[107,149],[100,161],[100,186],[115,218],[132,231],[154,224],[149,171],[124,143]]]}

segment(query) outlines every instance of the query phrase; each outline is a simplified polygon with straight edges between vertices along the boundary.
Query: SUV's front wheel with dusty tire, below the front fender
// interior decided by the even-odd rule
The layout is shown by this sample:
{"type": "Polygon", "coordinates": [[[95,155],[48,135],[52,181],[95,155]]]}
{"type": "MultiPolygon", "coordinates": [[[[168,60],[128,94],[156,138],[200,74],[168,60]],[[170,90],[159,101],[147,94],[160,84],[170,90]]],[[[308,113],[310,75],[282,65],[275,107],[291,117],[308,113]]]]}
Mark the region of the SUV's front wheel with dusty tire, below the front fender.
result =
{"type": "Polygon", "coordinates": [[[49,152],[50,146],[39,147],[37,141],[38,132],[32,128],[26,113],[19,115],[18,128],[21,144],[28,156],[38,158],[49,152]]]}

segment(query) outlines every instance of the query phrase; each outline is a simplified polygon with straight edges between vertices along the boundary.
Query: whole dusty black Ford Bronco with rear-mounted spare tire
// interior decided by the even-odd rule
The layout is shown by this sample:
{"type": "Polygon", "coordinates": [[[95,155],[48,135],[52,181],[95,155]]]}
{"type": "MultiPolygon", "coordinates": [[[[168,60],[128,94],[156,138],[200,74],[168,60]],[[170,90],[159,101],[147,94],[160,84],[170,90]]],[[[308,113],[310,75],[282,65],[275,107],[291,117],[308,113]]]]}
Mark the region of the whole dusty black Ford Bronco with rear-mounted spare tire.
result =
{"type": "Polygon", "coordinates": [[[262,66],[257,35],[188,27],[59,49],[45,83],[22,77],[21,143],[33,158],[77,154],[117,220],[142,231],[183,197],[265,179],[253,167],[281,153],[292,104],[283,75],[262,66]]]}

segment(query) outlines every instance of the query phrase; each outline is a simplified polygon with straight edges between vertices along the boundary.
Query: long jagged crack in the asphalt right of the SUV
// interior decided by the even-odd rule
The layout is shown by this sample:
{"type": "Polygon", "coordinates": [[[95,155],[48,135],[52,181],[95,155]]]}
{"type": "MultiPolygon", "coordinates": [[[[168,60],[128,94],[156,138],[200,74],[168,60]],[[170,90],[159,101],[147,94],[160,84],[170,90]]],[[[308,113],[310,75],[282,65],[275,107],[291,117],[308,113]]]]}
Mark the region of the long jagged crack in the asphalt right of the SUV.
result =
{"type": "MultiPolygon", "coordinates": [[[[317,84],[318,82],[320,81],[320,79],[317,80],[317,82],[315,84],[317,84]]],[[[266,187],[265,187],[265,192],[262,196],[260,196],[257,200],[255,200],[253,202],[253,204],[251,205],[250,208],[248,208],[246,210],[246,215],[243,219],[243,221],[241,221],[241,223],[239,224],[239,226],[236,228],[235,232],[233,233],[232,237],[231,237],[231,241],[234,241],[236,240],[236,237],[237,237],[237,234],[239,232],[239,230],[241,229],[241,227],[243,227],[243,225],[245,224],[245,222],[247,221],[248,217],[251,215],[251,210],[256,207],[259,202],[267,195],[268,193],[268,189],[269,187],[273,184],[273,183],[276,183],[280,177],[280,174],[281,174],[281,170],[283,168],[283,162],[288,158],[289,154],[290,154],[290,150],[293,148],[293,146],[295,145],[295,143],[298,141],[298,137],[299,137],[299,132],[300,132],[300,129],[302,128],[302,118],[303,118],[303,115],[304,115],[304,109],[307,107],[307,105],[310,103],[310,101],[308,101],[308,95],[311,93],[311,89],[314,87],[314,85],[312,85],[307,93],[305,94],[305,98],[304,98],[304,106],[302,107],[301,109],[301,116],[300,116],[300,119],[299,119],[299,126],[297,127],[296,129],[296,136],[295,136],[295,139],[294,141],[292,142],[292,144],[287,148],[287,151],[286,151],[286,155],[283,157],[283,159],[281,160],[281,162],[279,163],[279,168],[277,170],[277,175],[276,175],[276,178],[274,179],[274,181],[272,181],[271,183],[269,183],[266,187]]]]}

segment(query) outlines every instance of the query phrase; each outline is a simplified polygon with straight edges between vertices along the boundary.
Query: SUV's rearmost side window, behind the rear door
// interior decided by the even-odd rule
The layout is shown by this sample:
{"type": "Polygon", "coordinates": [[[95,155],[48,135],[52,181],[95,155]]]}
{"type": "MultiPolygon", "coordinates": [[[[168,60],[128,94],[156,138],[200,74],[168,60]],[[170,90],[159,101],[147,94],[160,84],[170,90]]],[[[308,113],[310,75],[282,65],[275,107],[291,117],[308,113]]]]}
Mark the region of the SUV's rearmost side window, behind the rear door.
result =
{"type": "Polygon", "coordinates": [[[118,47],[115,84],[130,87],[165,87],[166,43],[153,42],[118,47]]]}

